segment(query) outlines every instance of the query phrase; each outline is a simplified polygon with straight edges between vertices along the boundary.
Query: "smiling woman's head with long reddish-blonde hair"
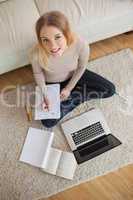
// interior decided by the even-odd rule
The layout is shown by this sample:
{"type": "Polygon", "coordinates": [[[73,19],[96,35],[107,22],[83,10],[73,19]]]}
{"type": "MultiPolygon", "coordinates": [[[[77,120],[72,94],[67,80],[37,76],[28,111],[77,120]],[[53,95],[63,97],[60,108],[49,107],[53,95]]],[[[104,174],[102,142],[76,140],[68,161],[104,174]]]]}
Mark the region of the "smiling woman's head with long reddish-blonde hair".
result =
{"type": "Polygon", "coordinates": [[[47,68],[50,55],[61,56],[66,47],[76,39],[70,30],[67,18],[59,11],[45,13],[38,19],[36,35],[39,42],[39,62],[44,69],[47,68]]]}

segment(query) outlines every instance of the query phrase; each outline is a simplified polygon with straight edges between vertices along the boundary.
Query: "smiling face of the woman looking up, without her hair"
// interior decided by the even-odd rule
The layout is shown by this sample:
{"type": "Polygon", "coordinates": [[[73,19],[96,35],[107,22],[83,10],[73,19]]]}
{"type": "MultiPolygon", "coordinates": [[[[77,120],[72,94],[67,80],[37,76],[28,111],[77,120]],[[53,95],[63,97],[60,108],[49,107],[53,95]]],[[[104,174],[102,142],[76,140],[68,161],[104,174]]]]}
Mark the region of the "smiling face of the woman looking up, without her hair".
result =
{"type": "Polygon", "coordinates": [[[44,26],[40,32],[43,47],[52,56],[61,56],[67,48],[64,34],[55,26],[44,26]]]}

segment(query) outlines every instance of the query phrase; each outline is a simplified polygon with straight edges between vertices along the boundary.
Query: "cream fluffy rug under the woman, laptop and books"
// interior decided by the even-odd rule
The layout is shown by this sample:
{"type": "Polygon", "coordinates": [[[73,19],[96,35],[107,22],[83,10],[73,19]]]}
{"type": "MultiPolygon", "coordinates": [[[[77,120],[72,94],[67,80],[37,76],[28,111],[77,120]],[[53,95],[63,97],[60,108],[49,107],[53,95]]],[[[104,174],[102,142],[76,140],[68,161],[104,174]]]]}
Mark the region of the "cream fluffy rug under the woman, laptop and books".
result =
{"type": "MultiPolygon", "coordinates": [[[[107,174],[133,162],[133,53],[121,50],[91,61],[88,69],[114,82],[119,95],[91,100],[67,114],[62,121],[99,107],[112,133],[122,145],[78,166],[72,181],[42,172],[38,168],[18,161],[28,127],[43,128],[39,121],[27,122],[23,106],[7,107],[0,96],[0,199],[33,200],[48,197],[79,183],[107,174]]],[[[26,87],[33,91],[34,84],[26,87]]],[[[25,89],[21,87],[21,91],[25,89]]],[[[7,92],[4,102],[16,102],[16,90],[7,92]]],[[[21,98],[24,98],[23,95],[21,98]]],[[[19,102],[17,102],[19,103],[19,102]]],[[[54,128],[54,147],[68,150],[69,146],[60,130],[54,128]]],[[[34,153],[34,152],[33,152],[34,153]]],[[[68,165],[69,167],[69,165],[68,165]]]]}

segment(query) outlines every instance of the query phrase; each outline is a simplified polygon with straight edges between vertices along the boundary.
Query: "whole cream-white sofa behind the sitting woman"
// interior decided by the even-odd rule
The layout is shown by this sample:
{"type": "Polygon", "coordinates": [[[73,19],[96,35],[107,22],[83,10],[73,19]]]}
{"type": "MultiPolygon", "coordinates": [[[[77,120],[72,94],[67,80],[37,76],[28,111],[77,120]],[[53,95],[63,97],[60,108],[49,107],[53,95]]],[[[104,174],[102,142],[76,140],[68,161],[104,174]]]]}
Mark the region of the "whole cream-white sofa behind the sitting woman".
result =
{"type": "Polygon", "coordinates": [[[64,12],[88,43],[133,29],[133,0],[0,0],[0,74],[29,64],[35,22],[49,10],[64,12]]]}

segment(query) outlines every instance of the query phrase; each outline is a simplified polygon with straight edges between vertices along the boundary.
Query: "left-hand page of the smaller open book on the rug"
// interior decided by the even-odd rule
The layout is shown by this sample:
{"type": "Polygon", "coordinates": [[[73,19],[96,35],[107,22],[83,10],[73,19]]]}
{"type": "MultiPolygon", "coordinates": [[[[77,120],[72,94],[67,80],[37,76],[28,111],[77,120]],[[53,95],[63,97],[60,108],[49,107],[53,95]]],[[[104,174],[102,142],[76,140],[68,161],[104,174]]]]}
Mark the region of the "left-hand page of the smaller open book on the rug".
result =
{"type": "Polygon", "coordinates": [[[49,157],[42,170],[55,175],[60,162],[61,153],[62,151],[59,149],[50,148],[49,157]]]}

